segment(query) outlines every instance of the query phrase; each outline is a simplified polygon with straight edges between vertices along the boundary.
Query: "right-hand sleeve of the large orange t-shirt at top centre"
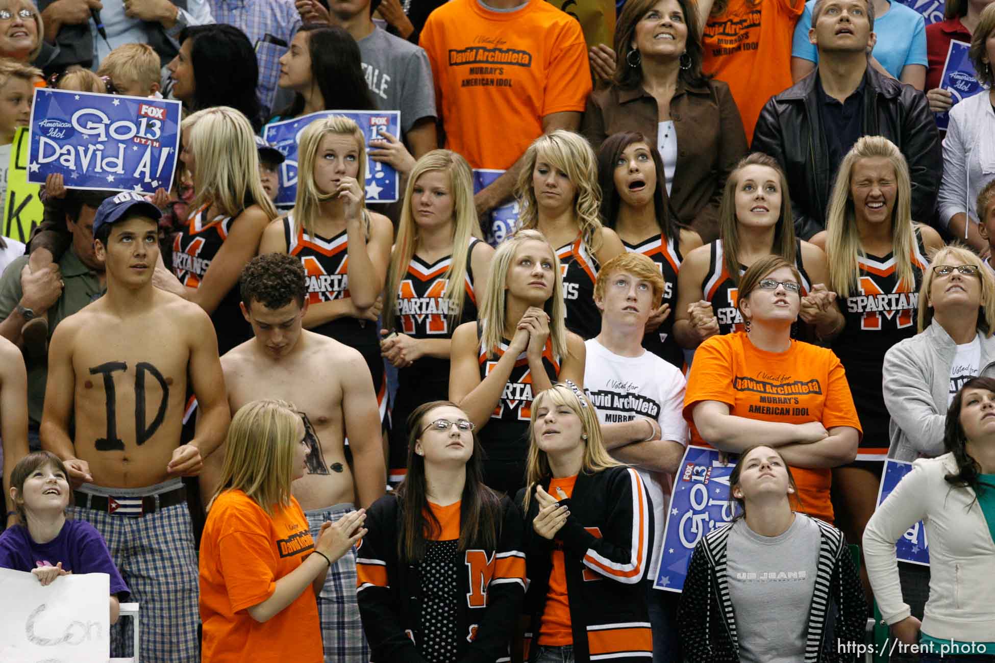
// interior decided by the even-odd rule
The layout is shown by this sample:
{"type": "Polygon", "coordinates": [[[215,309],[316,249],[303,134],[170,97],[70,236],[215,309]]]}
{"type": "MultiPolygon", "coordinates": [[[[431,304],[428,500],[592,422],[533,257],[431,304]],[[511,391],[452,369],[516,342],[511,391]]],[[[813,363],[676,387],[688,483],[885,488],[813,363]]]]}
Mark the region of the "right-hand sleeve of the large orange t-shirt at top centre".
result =
{"type": "Polygon", "coordinates": [[[593,87],[587,60],[587,44],[577,21],[570,20],[553,45],[553,58],[546,72],[542,116],[574,110],[583,112],[593,87]]]}

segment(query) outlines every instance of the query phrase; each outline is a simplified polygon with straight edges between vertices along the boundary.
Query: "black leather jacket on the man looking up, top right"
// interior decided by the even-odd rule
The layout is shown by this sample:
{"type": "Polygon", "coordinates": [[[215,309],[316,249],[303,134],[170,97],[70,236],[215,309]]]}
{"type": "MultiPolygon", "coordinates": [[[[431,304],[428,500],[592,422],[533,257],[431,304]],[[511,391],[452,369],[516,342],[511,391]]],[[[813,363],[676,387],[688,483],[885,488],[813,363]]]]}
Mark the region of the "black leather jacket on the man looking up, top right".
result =
{"type": "MultiPolygon", "coordinates": [[[[751,146],[784,168],[795,234],[803,240],[826,228],[836,176],[819,115],[818,71],[770,97],[760,111],[751,146]]],[[[901,150],[912,184],[912,219],[928,224],[943,175],[943,155],[925,94],[871,67],[864,76],[864,134],[885,136],[901,150]]]]}

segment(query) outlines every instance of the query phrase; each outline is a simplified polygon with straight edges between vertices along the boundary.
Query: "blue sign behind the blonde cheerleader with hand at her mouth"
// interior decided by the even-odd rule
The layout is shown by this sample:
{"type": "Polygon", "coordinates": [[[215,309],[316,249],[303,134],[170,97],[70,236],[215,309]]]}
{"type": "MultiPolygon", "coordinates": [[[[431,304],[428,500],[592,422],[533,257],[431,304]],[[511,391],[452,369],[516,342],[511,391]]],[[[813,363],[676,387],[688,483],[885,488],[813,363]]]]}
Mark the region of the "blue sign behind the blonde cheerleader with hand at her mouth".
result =
{"type": "Polygon", "coordinates": [[[295,119],[270,122],[263,129],[263,138],[272,143],[286,157],[280,165],[280,193],[277,194],[277,207],[290,209],[298,197],[298,143],[300,134],[308,124],[322,117],[345,115],[359,125],[366,137],[366,202],[393,203],[400,198],[400,178],[393,166],[369,158],[370,140],[380,138],[380,131],[386,130],[394,136],[401,136],[401,112],[399,110],[321,110],[295,119]]]}

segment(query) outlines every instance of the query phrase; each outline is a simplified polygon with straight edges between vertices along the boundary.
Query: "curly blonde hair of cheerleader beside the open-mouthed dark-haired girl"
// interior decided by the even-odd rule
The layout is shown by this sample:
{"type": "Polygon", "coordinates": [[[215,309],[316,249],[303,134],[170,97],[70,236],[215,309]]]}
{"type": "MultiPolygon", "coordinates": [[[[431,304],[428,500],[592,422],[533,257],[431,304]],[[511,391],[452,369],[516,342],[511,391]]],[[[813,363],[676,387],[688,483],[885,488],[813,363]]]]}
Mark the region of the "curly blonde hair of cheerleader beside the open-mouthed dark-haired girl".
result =
{"type": "MultiPolygon", "coordinates": [[[[601,249],[601,187],[598,185],[598,157],[583,136],[566,129],[556,129],[535,140],[525,150],[524,166],[518,174],[514,188],[518,199],[518,228],[538,229],[539,213],[532,188],[532,171],[542,159],[553,168],[563,171],[570,183],[577,188],[573,213],[580,227],[581,242],[594,258],[601,249]]],[[[555,250],[555,247],[553,248],[555,250]]]]}

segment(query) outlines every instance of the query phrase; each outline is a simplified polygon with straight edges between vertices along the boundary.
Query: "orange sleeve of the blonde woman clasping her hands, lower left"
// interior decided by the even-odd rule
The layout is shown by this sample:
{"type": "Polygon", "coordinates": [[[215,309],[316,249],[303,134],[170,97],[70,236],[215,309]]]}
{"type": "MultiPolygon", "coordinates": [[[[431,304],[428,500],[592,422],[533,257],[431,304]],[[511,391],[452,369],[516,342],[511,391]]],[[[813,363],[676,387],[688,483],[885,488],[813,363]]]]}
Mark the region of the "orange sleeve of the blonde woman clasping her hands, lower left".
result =
{"type": "Polygon", "coordinates": [[[270,517],[262,509],[229,504],[218,539],[218,566],[232,612],[238,612],[273,595],[278,560],[270,517]]]}

